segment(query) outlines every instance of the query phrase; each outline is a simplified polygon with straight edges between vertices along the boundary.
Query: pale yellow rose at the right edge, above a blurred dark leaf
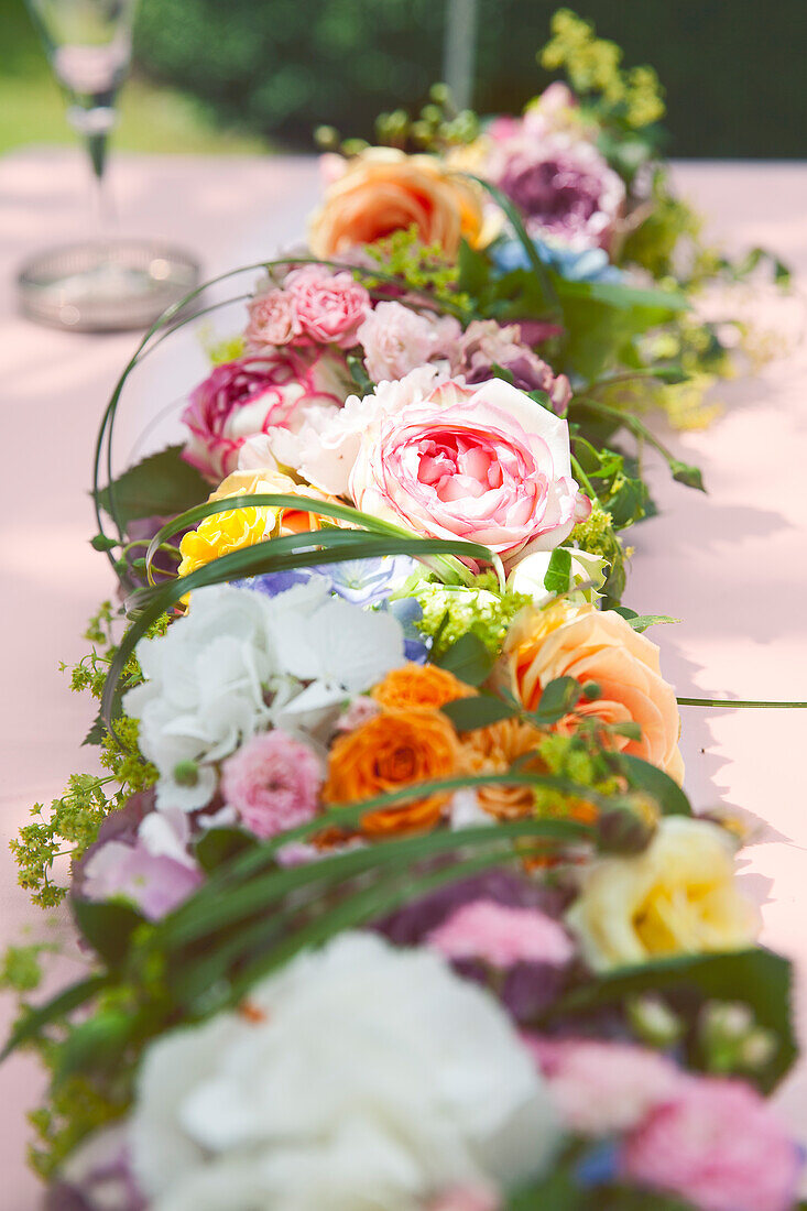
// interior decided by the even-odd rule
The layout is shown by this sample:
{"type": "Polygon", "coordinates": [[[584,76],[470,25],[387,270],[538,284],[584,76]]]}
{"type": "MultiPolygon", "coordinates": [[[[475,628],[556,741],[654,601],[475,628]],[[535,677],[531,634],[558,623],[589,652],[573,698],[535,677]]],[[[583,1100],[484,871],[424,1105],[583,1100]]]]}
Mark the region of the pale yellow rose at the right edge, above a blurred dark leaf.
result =
{"type": "Polygon", "coordinates": [[[596,861],[566,919],[597,971],[742,949],[760,929],[734,882],[734,842],[687,816],[665,816],[642,854],[596,861]]]}

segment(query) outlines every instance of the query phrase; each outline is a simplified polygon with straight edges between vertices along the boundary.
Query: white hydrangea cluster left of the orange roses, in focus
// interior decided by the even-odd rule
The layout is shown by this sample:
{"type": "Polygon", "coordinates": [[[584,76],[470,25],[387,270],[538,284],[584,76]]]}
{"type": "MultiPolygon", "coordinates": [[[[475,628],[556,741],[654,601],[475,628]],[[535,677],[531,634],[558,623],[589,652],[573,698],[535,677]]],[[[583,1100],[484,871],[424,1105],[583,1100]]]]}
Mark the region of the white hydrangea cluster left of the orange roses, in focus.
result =
{"type": "Polygon", "coordinates": [[[404,662],[404,632],[311,578],[276,597],[231,585],[196,590],[185,618],[142,639],[145,681],[125,698],[156,765],[160,809],[210,803],[216,763],[257,731],[316,736],[347,698],[404,662]]]}

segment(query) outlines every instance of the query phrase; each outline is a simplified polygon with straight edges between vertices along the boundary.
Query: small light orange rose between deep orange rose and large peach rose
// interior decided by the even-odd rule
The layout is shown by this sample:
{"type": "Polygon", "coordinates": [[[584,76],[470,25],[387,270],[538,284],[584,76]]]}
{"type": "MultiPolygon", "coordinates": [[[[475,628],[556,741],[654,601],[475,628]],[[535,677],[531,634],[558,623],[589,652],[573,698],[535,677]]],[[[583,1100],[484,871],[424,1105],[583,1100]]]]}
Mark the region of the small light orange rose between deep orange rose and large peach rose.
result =
{"type": "MultiPolygon", "coordinates": [[[[514,762],[527,753],[534,753],[530,769],[542,771],[543,762],[536,752],[540,733],[520,719],[500,719],[487,728],[468,731],[462,739],[463,768],[469,774],[505,774],[514,762]]],[[[477,786],[480,808],[498,820],[515,820],[530,815],[534,796],[528,786],[499,785],[477,786]]]]}

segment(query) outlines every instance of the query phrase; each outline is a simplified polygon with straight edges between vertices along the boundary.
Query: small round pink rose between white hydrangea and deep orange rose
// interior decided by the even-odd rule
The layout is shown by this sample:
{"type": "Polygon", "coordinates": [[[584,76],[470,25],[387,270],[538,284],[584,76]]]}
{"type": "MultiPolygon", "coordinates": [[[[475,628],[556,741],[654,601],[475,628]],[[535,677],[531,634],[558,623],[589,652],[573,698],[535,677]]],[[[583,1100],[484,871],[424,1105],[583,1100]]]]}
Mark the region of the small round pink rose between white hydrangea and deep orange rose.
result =
{"type": "Polygon", "coordinates": [[[316,815],[322,769],[302,741],[279,729],[253,736],[222,767],[222,794],[257,837],[275,837],[316,815]]]}

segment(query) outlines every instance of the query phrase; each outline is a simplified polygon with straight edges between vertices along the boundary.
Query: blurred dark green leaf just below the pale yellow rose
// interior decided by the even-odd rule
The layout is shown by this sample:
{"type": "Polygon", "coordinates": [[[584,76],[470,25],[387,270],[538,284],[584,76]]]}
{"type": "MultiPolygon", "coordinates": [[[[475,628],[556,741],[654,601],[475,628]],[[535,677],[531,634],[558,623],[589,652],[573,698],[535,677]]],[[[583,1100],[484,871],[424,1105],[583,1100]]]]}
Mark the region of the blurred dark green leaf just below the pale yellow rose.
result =
{"type": "MultiPolygon", "coordinates": [[[[774,1087],[797,1056],[790,1020],[791,964],[762,947],[719,954],[683,954],[641,966],[617,968],[595,976],[561,998],[546,1018],[557,1018],[567,1026],[570,1016],[619,1009],[625,1000],[642,993],[685,1000],[689,1020],[697,1008],[709,1000],[745,1003],[754,1011],[757,1023],[772,1031],[779,1040],[777,1054],[756,1078],[763,1092],[774,1087]]],[[[697,1066],[697,1046],[693,1045],[688,1058],[697,1066]]]]}

